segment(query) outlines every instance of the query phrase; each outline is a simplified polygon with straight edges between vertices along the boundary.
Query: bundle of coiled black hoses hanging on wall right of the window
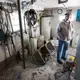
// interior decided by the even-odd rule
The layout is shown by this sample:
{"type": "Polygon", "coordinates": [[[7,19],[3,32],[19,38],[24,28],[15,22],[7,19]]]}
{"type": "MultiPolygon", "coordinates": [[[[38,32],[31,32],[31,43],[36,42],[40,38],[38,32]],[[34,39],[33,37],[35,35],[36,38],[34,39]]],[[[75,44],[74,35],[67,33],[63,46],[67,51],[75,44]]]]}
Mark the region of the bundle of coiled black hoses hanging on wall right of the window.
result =
{"type": "Polygon", "coordinates": [[[28,27],[29,28],[29,36],[32,37],[32,27],[37,22],[37,14],[34,9],[30,9],[24,13],[24,24],[25,24],[24,27],[25,27],[25,32],[27,33],[25,20],[27,22],[27,25],[29,26],[28,27]]]}

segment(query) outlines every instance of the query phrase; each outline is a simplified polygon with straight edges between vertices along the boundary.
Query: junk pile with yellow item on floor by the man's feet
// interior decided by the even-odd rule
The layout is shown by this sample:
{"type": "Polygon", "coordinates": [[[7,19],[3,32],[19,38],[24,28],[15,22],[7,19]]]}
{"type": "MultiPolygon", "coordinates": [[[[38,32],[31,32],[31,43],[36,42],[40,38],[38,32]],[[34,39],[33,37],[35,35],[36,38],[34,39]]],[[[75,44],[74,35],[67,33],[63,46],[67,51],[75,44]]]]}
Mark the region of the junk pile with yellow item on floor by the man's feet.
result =
{"type": "Polygon", "coordinates": [[[55,80],[75,80],[75,57],[69,56],[63,63],[62,69],[58,69],[55,74],[55,80]]]}

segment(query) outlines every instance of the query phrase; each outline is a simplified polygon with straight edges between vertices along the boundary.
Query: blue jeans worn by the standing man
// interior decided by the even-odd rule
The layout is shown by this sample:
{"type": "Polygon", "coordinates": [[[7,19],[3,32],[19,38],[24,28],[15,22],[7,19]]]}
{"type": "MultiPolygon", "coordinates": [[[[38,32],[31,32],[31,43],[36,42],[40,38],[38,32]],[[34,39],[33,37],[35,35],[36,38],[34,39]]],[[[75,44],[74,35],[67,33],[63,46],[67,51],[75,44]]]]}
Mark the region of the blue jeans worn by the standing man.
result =
{"type": "Polygon", "coordinates": [[[61,58],[66,59],[66,51],[68,50],[68,42],[58,40],[58,51],[57,51],[57,61],[59,62],[61,58]]]}

